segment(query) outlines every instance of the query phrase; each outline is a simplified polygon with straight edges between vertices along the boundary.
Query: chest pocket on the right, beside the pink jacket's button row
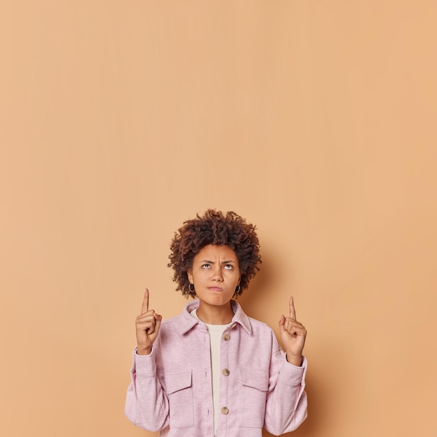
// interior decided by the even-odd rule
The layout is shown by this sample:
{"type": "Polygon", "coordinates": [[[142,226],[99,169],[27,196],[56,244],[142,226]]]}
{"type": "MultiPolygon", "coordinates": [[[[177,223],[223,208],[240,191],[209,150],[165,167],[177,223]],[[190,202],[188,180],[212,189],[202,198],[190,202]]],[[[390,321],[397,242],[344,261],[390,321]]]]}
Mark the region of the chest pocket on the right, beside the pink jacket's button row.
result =
{"type": "Polygon", "coordinates": [[[262,428],[269,388],[269,372],[260,369],[240,369],[240,378],[239,426],[262,428]]]}

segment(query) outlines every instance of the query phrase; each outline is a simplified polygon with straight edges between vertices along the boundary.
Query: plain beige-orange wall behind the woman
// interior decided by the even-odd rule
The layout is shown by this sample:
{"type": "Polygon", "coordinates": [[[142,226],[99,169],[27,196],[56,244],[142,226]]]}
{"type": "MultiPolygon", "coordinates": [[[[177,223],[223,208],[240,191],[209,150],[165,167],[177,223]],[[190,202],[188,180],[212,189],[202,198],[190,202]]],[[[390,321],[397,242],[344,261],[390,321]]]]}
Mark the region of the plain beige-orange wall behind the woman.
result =
{"type": "Polygon", "coordinates": [[[133,323],[216,207],[258,225],[246,312],[309,330],[293,436],[437,436],[436,5],[2,1],[0,435],[156,435],[133,323]]]}

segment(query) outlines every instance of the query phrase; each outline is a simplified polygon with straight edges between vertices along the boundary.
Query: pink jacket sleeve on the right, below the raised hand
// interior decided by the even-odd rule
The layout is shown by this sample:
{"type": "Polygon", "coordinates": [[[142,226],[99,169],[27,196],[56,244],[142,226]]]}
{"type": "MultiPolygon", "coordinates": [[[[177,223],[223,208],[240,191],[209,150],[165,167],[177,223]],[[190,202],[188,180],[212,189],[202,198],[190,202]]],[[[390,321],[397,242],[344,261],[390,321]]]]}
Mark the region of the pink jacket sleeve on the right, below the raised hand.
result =
{"type": "Polygon", "coordinates": [[[302,366],[290,364],[273,332],[272,336],[272,361],[264,427],[270,434],[279,436],[294,431],[306,419],[307,401],[304,389],[307,363],[304,357],[302,366]]]}

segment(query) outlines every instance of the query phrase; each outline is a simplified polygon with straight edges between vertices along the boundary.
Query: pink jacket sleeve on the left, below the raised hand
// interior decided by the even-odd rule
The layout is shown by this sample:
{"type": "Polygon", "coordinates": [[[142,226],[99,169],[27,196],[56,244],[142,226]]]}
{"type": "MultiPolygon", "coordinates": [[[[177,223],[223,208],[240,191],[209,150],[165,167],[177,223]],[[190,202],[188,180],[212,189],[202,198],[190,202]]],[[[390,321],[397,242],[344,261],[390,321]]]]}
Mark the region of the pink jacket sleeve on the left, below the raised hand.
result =
{"type": "Polygon", "coordinates": [[[168,397],[156,373],[156,348],[150,355],[133,351],[131,384],[126,395],[124,412],[131,422],[149,431],[168,427],[168,397]]]}

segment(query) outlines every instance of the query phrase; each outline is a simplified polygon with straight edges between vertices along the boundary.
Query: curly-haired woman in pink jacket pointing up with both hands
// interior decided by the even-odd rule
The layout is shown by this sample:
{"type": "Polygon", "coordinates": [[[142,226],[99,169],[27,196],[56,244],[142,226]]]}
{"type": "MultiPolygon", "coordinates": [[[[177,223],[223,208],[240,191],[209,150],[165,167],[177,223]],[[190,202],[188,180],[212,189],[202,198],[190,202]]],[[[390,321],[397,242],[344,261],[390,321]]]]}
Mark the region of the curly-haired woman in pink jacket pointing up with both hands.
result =
{"type": "Polygon", "coordinates": [[[209,209],[179,229],[169,258],[177,290],[197,299],[161,321],[145,291],[129,420],[161,437],[260,437],[262,427],[274,435],[299,427],[306,418],[306,329],[292,297],[289,316],[279,320],[285,352],[272,329],[235,301],[259,270],[255,226],[209,209]]]}

